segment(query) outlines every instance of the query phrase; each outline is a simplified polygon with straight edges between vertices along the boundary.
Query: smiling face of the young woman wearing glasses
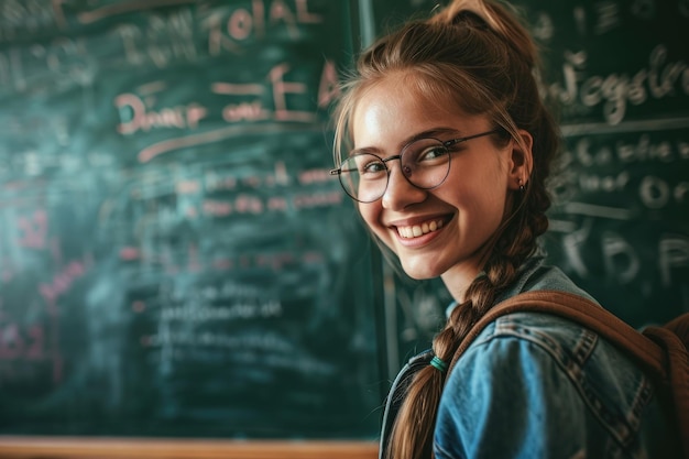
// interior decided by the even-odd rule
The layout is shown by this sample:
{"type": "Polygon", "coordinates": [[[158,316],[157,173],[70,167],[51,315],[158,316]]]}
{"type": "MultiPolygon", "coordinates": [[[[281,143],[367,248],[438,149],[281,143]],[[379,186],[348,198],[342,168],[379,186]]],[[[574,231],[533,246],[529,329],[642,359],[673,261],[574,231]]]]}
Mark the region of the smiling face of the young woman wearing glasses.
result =
{"type": "MultiPolygon", "coordinates": [[[[494,128],[488,117],[434,103],[405,81],[389,76],[363,94],[351,119],[356,152],[386,159],[419,135],[448,141],[494,128]]],[[[518,186],[513,143],[497,144],[488,135],[450,147],[449,175],[434,189],[416,188],[402,174],[400,162],[391,161],[383,197],[359,204],[365,223],[411,277],[442,276],[456,295],[481,271],[485,243],[503,220],[508,189],[518,186]]]]}

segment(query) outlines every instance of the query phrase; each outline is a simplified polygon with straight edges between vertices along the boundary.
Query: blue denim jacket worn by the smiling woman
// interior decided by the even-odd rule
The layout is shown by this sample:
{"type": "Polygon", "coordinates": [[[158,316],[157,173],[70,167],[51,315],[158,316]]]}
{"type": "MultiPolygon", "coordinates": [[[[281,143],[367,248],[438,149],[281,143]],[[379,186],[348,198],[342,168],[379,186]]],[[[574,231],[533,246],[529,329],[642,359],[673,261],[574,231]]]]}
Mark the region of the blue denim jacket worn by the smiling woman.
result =
{"type": "MultiPolygon", "coordinates": [[[[534,256],[496,303],[538,289],[590,298],[559,269],[534,256]]],[[[381,457],[411,378],[431,358],[431,351],[414,357],[395,379],[381,457]]],[[[515,313],[489,325],[448,375],[434,453],[437,459],[668,458],[667,431],[649,379],[609,342],[559,317],[515,313]]]]}

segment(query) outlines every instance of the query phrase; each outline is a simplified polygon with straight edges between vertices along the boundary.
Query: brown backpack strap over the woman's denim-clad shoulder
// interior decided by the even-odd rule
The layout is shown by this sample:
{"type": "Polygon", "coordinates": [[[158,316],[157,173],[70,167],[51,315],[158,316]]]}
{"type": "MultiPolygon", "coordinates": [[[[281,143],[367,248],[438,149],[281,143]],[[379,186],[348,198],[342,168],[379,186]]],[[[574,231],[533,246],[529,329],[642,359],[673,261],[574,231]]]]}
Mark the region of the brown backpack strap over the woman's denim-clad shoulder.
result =
{"type": "Polygon", "coordinates": [[[479,334],[497,317],[512,313],[551,314],[580,324],[636,359],[646,371],[667,378],[663,349],[600,305],[576,294],[559,291],[525,292],[493,306],[471,328],[452,357],[448,373],[479,334]]]}

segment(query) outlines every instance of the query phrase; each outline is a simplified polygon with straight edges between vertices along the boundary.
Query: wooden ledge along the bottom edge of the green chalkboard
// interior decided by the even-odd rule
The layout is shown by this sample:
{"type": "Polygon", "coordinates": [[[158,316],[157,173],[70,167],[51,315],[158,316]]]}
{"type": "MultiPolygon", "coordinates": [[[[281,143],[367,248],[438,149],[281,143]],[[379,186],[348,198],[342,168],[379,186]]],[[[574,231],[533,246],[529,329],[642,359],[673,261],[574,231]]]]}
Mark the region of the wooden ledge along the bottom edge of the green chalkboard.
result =
{"type": "Polygon", "coordinates": [[[0,437],[6,459],[373,459],[372,440],[209,440],[0,437]]]}

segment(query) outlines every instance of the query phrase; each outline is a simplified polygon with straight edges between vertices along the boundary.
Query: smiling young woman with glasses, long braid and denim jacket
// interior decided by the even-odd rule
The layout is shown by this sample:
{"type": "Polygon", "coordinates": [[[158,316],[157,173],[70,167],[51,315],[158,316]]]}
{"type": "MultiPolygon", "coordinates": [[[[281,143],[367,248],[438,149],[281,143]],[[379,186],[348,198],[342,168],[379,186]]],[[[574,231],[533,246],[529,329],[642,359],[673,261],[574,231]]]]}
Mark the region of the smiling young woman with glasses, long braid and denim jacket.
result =
{"type": "Polygon", "coordinates": [[[558,130],[537,67],[508,8],[457,0],[381,39],[343,86],[333,174],[404,271],[440,276],[456,299],[433,351],[394,383],[387,458],[657,458],[671,446],[647,375],[555,316],[495,320],[447,373],[499,302],[539,289],[590,298],[538,251],[558,130]]]}

